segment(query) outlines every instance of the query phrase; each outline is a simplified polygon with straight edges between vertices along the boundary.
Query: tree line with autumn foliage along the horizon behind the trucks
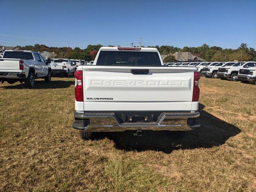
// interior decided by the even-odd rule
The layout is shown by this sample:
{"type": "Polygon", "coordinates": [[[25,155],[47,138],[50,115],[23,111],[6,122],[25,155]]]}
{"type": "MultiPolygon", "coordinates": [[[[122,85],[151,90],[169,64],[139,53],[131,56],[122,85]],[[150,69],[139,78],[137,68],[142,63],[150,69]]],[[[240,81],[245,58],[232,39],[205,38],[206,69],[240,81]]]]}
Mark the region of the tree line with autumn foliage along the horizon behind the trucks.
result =
{"type": "MultiPolygon", "coordinates": [[[[109,45],[112,46],[112,45],[109,45]]],[[[70,59],[84,59],[84,60],[94,60],[98,50],[102,47],[101,44],[98,45],[88,45],[86,49],[80,49],[75,47],[48,47],[45,45],[35,44],[34,46],[28,45],[22,47],[23,50],[32,51],[48,51],[57,54],[57,58],[70,58],[70,59]]],[[[207,44],[203,44],[198,47],[187,47],[178,48],[174,46],[162,45],[162,46],[148,46],[152,48],[157,48],[160,54],[169,55],[178,51],[190,52],[206,61],[256,61],[256,50],[252,47],[247,46],[246,43],[242,43],[237,49],[222,49],[218,46],[210,47],[207,44]]]]}

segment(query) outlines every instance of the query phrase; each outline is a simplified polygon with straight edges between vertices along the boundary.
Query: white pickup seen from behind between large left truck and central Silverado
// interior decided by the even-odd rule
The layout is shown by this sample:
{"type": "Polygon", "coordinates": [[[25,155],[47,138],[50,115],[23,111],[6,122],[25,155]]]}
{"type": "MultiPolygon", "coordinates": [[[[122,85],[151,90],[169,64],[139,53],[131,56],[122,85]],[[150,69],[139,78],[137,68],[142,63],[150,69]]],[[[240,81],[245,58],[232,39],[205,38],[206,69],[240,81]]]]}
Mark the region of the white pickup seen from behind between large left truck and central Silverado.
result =
{"type": "Polygon", "coordinates": [[[51,63],[52,74],[53,75],[64,75],[69,77],[69,74],[74,74],[75,66],[70,59],[52,59],[51,63]]]}

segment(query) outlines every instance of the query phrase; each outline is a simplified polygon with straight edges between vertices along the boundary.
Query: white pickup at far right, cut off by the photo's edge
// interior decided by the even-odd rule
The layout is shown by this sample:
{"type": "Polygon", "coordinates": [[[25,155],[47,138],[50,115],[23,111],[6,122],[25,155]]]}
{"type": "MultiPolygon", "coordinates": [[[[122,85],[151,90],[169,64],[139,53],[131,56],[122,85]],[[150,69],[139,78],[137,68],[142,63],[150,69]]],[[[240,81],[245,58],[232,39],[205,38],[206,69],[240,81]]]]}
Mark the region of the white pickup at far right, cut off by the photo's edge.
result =
{"type": "Polygon", "coordinates": [[[246,62],[239,69],[238,80],[241,82],[254,82],[256,84],[256,62],[246,62]]]}

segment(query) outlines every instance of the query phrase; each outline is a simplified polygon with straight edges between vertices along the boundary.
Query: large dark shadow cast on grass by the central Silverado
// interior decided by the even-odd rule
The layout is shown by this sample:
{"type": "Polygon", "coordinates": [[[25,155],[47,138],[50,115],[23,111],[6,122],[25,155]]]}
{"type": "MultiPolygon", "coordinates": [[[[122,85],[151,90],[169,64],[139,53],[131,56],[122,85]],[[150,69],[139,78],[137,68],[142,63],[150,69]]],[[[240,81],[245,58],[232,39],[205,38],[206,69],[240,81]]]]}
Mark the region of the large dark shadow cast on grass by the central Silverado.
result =
{"type": "Polygon", "coordinates": [[[241,130],[203,110],[200,104],[201,127],[187,131],[182,140],[177,139],[171,131],[143,131],[142,136],[133,136],[134,131],[101,133],[115,142],[115,146],[121,150],[156,150],[170,153],[175,149],[211,148],[224,144],[228,138],[237,135],[241,130]]]}

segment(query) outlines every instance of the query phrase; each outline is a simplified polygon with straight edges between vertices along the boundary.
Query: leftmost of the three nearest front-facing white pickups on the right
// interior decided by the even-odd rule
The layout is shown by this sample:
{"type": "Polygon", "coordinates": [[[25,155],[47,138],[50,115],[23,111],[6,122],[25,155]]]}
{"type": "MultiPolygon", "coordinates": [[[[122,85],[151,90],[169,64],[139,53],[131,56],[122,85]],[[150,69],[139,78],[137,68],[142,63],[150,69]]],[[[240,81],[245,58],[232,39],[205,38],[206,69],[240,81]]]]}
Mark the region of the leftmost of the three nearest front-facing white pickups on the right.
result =
{"type": "Polygon", "coordinates": [[[210,64],[210,66],[206,66],[203,68],[202,74],[206,77],[218,78],[218,68],[224,66],[231,66],[236,62],[219,62],[217,64],[210,64]]]}

